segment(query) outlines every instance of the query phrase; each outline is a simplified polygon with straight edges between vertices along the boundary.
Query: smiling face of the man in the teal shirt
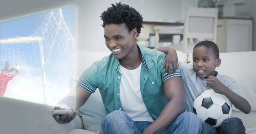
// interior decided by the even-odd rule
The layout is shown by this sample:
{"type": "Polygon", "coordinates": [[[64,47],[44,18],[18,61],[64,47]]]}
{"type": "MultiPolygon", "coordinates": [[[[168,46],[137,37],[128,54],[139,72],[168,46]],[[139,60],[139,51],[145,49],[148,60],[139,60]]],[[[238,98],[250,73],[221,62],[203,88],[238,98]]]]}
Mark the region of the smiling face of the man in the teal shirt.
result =
{"type": "Polygon", "coordinates": [[[105,25],[105,43],[108,49],[113,53],[115,59],[122,59],[130,53],[131,49],[134,47],[136,37],[136,28],[129,32],[128,29],[125,28],[125,24],[105,25]]]}

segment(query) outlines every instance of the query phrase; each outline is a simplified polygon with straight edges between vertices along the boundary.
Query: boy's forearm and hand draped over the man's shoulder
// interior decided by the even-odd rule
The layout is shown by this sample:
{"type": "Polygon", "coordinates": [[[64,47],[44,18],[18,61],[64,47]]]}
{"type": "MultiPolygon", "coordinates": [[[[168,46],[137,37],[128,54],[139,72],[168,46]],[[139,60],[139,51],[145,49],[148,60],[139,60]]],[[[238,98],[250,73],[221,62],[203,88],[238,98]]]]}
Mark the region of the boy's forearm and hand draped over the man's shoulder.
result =
{"type": "Polygon", "coordinates": [[[179,61],[176,50],[169,47],[158,47],[157,50],[167,55],[163,64],[163,69],[166,71],[166,73],[171,74],[173,67],[173,73],[175,74],[176,69],[179,70],[179,61]]]}

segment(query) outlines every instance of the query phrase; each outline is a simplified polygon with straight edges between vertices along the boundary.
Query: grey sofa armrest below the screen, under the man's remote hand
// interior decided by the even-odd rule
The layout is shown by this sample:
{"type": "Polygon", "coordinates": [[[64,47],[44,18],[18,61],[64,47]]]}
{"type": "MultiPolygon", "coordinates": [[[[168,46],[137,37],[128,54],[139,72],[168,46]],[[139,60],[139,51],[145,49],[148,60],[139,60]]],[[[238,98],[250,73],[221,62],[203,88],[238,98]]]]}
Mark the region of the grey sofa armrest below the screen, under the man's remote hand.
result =
{"type": "Polygon", "coordinates": [[[50,114],[53,106],[0,97],[1,134],[68,134],[83,129],[78,115],[70,123],[60,124],[50,114]]]}

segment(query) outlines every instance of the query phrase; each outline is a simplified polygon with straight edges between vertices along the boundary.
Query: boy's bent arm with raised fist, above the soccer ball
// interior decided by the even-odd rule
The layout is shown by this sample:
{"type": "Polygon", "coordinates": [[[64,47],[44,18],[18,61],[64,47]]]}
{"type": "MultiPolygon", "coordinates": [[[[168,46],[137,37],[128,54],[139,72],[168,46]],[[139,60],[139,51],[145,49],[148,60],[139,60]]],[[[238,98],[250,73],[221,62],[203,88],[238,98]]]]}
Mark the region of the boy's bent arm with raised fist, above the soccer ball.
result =
{"type": "Polygon", "coordinates": [[[207,86],[216,91],[222,92],[231,101],[231,103],[236,106],[237,109],[241,110],[241,112],[244,112],[245,114],[250,113],[250,103],[245,98],[241,97],[241,95],[236,93],[240,92],[241,89],[235,80],[232,79],[227,87],[222,84],[218,78],[209,76],[209,78],[207,78],[207,86]]]}

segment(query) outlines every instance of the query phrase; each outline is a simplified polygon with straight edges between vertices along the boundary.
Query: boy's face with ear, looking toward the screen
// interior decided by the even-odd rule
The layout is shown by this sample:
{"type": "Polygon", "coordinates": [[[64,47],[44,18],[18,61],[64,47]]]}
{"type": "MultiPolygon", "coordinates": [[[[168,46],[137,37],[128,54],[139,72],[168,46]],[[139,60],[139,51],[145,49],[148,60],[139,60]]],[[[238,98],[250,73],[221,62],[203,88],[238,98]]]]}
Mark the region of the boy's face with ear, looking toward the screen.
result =
{"type": "Polygon", "coordinates": [[[193,68],[200,78],[208,78],[213,75],[215,67],[221,64],[220,59],[215,59],[212,49],[207,47],[196,47],[193,49],[193,68]]]}

